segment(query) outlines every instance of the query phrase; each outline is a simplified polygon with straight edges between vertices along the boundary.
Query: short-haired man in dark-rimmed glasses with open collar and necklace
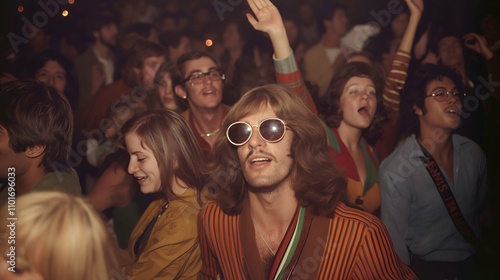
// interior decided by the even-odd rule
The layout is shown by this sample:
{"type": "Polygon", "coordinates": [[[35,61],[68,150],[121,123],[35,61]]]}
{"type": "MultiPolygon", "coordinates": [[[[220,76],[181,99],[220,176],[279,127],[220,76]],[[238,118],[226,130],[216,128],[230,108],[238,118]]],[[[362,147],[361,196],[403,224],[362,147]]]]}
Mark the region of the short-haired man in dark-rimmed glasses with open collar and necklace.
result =
{"type": "Polygon", "coordinates": [[[182,115],[193,129],[205,160],[212,161],[212,146],[229,109],[222,104],[225,76],[218,61],[208,53],[184,54],[176,66],[178,73],[173,77],[175,93],[189,104],[189,109],[182,115]]]}

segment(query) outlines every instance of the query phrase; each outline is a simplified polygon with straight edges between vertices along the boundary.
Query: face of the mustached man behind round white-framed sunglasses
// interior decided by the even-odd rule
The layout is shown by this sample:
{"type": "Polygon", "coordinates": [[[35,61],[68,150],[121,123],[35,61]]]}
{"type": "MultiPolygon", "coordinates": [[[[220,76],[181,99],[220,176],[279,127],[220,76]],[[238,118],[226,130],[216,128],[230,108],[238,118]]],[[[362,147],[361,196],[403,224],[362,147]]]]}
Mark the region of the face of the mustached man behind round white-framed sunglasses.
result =
{"type": "MultiPolygon", "coordinates": [[[[239,121],[250,125],[259,125],[268,118],[276,118],[276,113],[271,106],[265,105],[254,114],[248,115],[239,121]]],[[[240,166],[248,184],[254,188],[279,188],[289,185],[293,159],[291,157],[291,144],[293,132],[287,129],[285,136],[278,142],[266,142],[253,127],[252,137],[242,146],[237,148],[240,166]]]]}

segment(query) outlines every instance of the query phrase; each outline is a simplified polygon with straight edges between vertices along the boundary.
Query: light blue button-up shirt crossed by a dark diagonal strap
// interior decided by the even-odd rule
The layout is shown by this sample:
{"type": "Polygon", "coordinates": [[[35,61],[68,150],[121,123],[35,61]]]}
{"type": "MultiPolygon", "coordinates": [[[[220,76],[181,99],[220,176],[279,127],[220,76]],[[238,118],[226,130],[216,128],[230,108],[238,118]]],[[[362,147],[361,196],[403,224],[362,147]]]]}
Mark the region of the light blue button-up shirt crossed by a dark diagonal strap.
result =
{"type": "MultiPolygon", "coordinates": [[[[453,174],[443,173],[462,215],[480,238],[479,214],[486,199],[486,159],[473,141],[454,134],[453,174]],[[449,176],[453,175],[454,183],[449,176]]],[[[463,261],[474,253],[453,224],[422,162],[415,135],[387,157],[379,169],[381,217],[401,260],[410,253],[426,261],[463,261]]]]}

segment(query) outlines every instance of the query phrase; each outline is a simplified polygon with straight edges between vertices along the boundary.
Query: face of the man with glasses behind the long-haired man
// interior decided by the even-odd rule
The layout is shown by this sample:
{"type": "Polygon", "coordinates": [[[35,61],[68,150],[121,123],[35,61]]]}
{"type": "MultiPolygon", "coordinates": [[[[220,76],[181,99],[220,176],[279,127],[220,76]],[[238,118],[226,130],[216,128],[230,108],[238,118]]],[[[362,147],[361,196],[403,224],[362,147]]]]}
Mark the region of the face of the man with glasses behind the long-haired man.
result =
{"type": "MultiPolygon", "coordinates": [[[[212,59],[200,57],[186,61],[184,69],[184,78],[186,79],[195,72],[207,73],[210,70],[218,69],[218,67],[212,59]]],[[[205,76],[200,84],[192,85],[189,81],[186,81],[184,85],[177,85],[175,93],[181,98],[187,97],[191,110],[214,110],[222,103],[222,88],[222,80],[212,81],[205,76]]]]}

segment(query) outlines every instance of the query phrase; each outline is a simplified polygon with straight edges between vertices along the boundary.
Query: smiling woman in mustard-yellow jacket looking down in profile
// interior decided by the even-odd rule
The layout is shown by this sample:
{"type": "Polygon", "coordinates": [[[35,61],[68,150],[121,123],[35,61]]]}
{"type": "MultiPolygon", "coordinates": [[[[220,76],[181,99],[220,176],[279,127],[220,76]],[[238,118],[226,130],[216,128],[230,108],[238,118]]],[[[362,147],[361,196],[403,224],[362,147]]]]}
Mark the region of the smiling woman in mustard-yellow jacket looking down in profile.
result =
{"type": "Polygon", "coordinates": [[[134,279],[196,279],[201,268],[197,217],[205,181],[203,156],[186,120],[160,109],[122,127],[128,172],[143,193],[156,193],[124,252],[134,279]]]}

